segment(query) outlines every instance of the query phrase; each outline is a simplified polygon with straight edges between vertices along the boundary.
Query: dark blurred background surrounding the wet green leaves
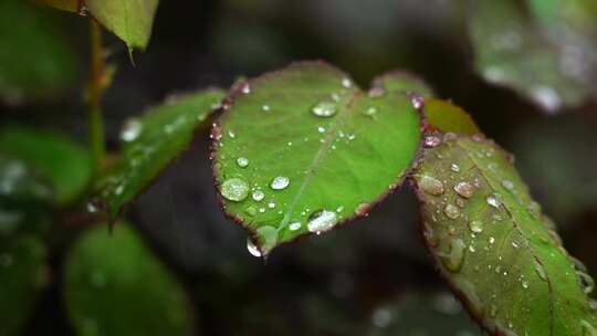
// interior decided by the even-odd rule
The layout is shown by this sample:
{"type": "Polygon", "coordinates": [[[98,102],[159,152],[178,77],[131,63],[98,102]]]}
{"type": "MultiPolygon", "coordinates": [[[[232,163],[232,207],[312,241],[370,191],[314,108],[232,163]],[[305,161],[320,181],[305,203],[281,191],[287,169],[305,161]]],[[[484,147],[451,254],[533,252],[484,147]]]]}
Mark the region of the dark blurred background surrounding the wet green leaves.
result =
{"type": "MultiPolygon", "coordinates": [[[[83,85],[86,22],[54,14],[80,51],[83,85]]],[[[293,61],[325,60],[363,87],[377,74],[407,70],[440,97],[463,106],[489,137],[516,156],[517,168],[558,222],[568,250],[597,270],[595,104],[546,115],[507,88],[483,83],[473,72],[460,19],[452,2],[442,0],[164,0],[149,48],[135,53],[135,66],[124,44],[105,34],[114,51],[111,61],[118,65],[104,98],[108,146],[117,149],[126,117],[169,94],[228,87],[240,76],[293,61]]],[[[2,111],[2,123],[48,126],[86,138],[80,90],[59,101],[2,111]]],[[[433,271],[408,187],[369,218],[283,245],[263,262],[247,252],[245,232],[217,206],[207,134],[127,211],[185,283],[201,334],[448,335],[422,332],[429,328],[426,321],[446,319],[455,324],[448,327],[453,335],[475,335],[476,327],[461,316],[433,271]]],[[[63,252],[52,255],[57,269],[63,252]]],[[[71,335],[59,285],[50,293],[28,335],[71,335]]]]}

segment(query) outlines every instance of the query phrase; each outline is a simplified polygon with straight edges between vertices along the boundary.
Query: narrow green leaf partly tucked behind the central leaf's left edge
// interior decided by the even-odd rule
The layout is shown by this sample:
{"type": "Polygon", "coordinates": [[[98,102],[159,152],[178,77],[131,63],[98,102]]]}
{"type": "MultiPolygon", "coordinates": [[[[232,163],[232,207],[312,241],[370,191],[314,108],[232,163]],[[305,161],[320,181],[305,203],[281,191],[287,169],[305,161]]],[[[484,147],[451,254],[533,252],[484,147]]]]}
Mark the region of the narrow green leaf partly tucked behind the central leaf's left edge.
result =
{"type": "Polygon", "coordinates": [[[115,219],[189,146],[195,130],[223,97],[209,90],[175,96],[143,117],[129,119],[121,132],[122,154],[94,187],[93,202],[115,219]]]}

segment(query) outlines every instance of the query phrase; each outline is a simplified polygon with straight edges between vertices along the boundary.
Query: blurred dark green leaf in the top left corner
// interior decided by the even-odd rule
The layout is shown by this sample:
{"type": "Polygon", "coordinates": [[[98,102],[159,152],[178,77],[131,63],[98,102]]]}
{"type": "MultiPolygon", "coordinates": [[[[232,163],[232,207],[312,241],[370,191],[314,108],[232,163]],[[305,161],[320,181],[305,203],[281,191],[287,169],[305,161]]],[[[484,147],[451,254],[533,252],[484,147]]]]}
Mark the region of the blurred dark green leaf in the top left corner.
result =
{"type": "Polygon", "coordinates": [[[54,19],[27,1],[0,2],[0,99],[18,105],[73,86],[78,59],[54,19]]]}

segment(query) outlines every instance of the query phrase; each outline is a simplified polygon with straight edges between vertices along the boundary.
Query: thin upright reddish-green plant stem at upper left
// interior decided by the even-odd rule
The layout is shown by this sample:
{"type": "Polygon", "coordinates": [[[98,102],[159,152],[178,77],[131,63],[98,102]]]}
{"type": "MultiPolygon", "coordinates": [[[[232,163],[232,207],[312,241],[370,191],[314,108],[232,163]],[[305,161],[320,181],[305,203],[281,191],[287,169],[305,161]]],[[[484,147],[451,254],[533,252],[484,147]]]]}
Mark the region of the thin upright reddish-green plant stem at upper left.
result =
{"type": "Polygon", "coordinates": [[[102,49],[102,28],[90,19],[91,72],[87,87],[87,117],[90,123],[90,145],[95,162],[95,172],[104,165],[105,143],[102,119],[102,94],[104,91],[105,59],[102,49]]]}

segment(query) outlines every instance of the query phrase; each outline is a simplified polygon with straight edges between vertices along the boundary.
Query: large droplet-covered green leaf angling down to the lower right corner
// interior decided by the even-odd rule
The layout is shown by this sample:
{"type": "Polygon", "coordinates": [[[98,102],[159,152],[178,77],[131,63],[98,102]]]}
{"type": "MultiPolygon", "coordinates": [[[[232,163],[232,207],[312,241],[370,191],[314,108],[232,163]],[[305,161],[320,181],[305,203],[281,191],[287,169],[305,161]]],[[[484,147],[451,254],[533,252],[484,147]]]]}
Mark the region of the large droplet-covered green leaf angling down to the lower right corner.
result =
{"type": "Polygon", "coordinates": [[[595,335],[593,280],[568,255],[512,166],[480,136],[447,134],[415,170],[441,274],[499,335],[595,335]]]}

